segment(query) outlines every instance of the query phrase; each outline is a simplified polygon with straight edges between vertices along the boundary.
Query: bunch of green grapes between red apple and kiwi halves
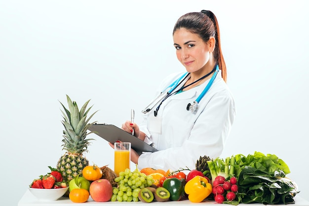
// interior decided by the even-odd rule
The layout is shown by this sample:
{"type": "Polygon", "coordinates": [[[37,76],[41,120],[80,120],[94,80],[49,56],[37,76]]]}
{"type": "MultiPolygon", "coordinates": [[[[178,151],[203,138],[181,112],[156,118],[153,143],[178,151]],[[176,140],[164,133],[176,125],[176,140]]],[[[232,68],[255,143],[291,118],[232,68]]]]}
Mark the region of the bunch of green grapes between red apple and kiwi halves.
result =
{"type": "Polygon", "coordinates": [[[137,168],[132,172],[125,169],[119,172],[115,178],[117,187],[113,187],[112,202],[138,202],[138,193],[144,187],[149,187],[154,183],[152,176],[141,173],[137,168]]]}

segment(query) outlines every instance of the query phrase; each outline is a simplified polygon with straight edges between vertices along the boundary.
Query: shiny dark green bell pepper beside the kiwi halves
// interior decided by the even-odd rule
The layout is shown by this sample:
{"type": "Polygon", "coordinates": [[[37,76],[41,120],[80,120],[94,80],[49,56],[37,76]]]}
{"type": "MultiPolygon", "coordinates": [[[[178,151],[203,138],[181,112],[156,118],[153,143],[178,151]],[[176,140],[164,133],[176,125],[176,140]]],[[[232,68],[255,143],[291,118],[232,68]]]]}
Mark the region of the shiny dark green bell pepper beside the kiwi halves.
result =
{"type": "Polygon", "coordinates": [[[162,187],[167,189],[171,194],[169,197],[171,201],[179,201],[185,194],[185,185],[185,179],[178,179],[176,177],[172,177],[164,180],[162,187]]]}

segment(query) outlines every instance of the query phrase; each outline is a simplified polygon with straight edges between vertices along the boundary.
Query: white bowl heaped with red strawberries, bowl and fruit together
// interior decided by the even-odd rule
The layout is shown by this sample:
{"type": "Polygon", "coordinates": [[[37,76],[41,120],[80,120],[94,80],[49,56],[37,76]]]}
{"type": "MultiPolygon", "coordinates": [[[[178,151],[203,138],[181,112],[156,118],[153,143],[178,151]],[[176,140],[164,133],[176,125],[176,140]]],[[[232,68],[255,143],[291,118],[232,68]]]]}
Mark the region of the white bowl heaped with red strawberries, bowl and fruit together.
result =
{"type": "Polygon", "coordinates": [[[39,200],[56,201],[69,189],[59,171],[49,166],[51,172],[40,175],[29,185],[29,191],[39,200]]]}

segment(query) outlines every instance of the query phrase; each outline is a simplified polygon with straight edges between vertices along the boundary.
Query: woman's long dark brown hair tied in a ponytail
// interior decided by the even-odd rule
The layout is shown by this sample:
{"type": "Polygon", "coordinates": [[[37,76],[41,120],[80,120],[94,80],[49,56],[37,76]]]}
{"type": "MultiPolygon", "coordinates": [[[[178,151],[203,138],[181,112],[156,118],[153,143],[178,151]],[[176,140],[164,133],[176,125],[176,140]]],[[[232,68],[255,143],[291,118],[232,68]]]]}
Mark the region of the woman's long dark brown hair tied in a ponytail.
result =
{"type": "Polygon", "coordinates": [[[216,40],[215,50],[213,52],[214,59],[222,71],[222,78],[227,81],[227,68],[221,51],[220,30],[215,14],[208,10],[201,12],[191,12],[181,16],[173,30],[173,35],[176,30],[184,28],[197,34],[204,42],[207,42],[210,37],[216,40]]]}

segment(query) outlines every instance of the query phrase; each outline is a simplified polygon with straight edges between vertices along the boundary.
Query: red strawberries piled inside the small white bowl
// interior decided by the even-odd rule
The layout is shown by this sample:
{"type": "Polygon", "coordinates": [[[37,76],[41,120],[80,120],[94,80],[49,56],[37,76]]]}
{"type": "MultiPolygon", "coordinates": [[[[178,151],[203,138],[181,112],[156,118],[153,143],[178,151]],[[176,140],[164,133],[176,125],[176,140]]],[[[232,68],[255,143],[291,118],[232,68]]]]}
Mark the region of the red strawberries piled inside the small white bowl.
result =
{"type": "Polygon", "coordinates": [[[40,175],[38,179],[34,179],[29,185],[31,188],[37,189],[57,189],[68,187],[67,183],[63,180],[62,174],[55,168],[48,166],[51,172],[40,175]]]}

